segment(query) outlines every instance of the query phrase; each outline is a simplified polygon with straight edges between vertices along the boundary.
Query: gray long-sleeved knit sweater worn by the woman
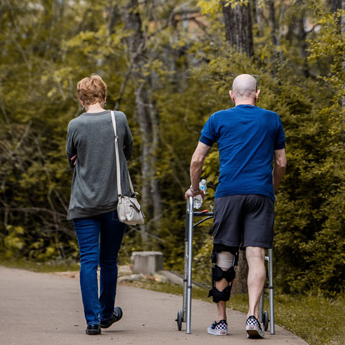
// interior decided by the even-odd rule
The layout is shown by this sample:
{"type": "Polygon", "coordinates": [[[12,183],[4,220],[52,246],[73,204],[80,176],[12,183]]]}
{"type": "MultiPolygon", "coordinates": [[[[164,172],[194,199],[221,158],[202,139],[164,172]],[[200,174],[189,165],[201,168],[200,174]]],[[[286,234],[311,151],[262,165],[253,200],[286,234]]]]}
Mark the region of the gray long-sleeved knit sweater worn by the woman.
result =
{"type": "MultiPolygon", "coordinates": [[[[124,112],[115,112],[122,194],[130,195],[127,161],[133,138],[124,112]],[[123,146],[126,146],[122,149],[123,146]]],[[[117,208],[114,130],[109,110],[84,112],[68,124],[66,152],[74,170],[67,219],[90,217],[117,208]],[[74,166],[71,157],[77,155],[74,166]]]]}

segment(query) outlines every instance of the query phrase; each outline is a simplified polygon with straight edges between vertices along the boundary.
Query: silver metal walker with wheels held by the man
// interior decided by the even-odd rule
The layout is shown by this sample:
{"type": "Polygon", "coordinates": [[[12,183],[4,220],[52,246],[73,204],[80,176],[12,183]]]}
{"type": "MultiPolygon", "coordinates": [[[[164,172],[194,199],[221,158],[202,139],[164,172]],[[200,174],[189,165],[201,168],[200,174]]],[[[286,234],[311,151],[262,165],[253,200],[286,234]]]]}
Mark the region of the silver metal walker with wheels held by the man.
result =
{"type": "MultiPolygon", "coordinates": [[[[182,322],[186,322],[186,334],[191,333],[190,322],[192,319],[193,228],[211,218],[213,218],[213,212],[208,212],[208,210],[194,211],[193,197],[189,198],[186,208],[186,232],[184,237],[184,292],[182,298],[182,311],[177,312],[177,319],[175,319],[179,331],[181,331],[182,322]],[[194,217],[204,218],[196,224],[193,224],[194,217]]],[[[270,322],[270,334],[275,334],[272,249],[268,249],[268,257],[265,256],[265,261],[268,262],[270,319],[268,317],[268,312],[264,311],[264,290],[262,290],[262,296],[259,303],[259,322],[264,324],[265,331],[267,331],[268,322],[270,322]]]]}

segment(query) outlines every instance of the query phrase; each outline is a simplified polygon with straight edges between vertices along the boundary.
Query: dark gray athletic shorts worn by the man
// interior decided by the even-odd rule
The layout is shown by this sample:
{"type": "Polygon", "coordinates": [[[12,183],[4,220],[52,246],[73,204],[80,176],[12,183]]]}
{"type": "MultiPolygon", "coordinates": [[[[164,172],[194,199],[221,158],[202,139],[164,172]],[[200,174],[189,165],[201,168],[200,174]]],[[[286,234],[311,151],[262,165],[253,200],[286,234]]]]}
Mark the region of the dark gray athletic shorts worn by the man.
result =
{"type": "Polygon", "coordinates": [[[215,199],[213,243],[272,248],[275,203],[264,195],[228,195],[215,199]]]}

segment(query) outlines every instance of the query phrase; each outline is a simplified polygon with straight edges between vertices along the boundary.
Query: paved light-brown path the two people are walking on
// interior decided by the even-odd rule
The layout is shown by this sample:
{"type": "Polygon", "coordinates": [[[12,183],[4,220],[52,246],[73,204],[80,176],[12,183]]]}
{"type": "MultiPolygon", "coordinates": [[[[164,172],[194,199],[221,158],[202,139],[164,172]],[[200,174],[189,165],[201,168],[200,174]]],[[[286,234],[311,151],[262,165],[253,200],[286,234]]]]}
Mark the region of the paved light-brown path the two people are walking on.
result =
{"type": "Polygon", "coordinates": [[[181,304],[181,296],[120,285],[117,305],[124,317],[90,336],[78,279],[0,266],[0,345],[307,344],[279,326],[265,339],[246,339],[246,315],[230,309],[230,335],[208,335],[215,306],[197,300],[192,302],[192,334],[186,335],[186,324],[179,332],[174,321],[181,304]]]}

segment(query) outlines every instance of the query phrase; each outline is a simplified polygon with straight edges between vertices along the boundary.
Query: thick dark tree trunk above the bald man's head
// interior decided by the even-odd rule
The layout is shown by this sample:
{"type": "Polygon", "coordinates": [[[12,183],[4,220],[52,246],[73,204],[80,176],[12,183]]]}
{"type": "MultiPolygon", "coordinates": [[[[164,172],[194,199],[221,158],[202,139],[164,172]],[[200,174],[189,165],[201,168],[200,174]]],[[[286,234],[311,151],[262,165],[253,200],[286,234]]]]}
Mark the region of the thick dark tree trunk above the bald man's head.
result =
{"type": "MultiPolygon", "coordinates": [[[[238,1],[237,1],[238,2],[238,1]]],[[[250,2],[248,5],[241,5],[239,2],[234,8],[226,1],[221,1],[223,9],[226,41],[234,47],[237,52],[244,52],[249,57],[254,55],[252,20],[250,17],[250,2]]]]}

